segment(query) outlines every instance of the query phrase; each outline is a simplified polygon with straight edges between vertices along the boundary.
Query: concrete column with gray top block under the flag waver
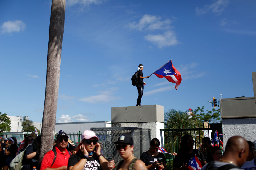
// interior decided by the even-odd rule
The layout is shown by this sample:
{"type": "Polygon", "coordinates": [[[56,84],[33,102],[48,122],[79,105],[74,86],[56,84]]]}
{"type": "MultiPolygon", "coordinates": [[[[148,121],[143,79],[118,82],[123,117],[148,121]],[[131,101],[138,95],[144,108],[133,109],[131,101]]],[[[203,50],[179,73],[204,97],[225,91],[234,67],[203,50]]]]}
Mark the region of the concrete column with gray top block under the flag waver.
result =
{"type": "Polygon", "coordinates": [[[164,106],[112,107],[111,122],[112,127],[149,128],[151,139],[157,138],[161,144],[160,129],[164,129],[164,106]]]}

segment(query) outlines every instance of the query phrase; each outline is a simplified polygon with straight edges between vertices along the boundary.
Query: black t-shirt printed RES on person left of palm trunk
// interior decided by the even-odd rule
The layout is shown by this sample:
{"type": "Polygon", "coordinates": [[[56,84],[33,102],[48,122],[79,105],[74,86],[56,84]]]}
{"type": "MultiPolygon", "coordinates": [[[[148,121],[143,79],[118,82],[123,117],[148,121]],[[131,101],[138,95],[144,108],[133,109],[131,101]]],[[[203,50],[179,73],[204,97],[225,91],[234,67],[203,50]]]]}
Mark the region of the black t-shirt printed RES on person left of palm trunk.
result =
{"type": "Polygon", "coordinates": [[[26,156],[29,155],[30,153],[36,152],[36,146],[34,144],[29,144],[26,148],[26,150],[24,151],[24,156],[23,156],[23,160],[22,160],[22,165],[23,168],[22,170],[33,170],[33,166],[36,166],[36,169],[39,169],[38,166],[38,158],[39,158],[39,154],[36,154],[35,157],[33,157],[32,159],[27,159],[26,156]]]}

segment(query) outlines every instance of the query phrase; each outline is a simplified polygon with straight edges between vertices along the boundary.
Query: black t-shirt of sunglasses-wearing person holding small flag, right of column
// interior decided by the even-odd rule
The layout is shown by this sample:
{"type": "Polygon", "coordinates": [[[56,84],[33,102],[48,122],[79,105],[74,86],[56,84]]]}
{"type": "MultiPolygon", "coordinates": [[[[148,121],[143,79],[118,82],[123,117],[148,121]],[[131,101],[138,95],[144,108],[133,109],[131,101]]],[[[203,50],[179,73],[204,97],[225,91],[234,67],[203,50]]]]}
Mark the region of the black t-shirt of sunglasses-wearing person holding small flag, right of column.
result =
{"type": "Polygon", "coordinates": [[[199,160],[203,162],[205,161],[204,154],[198,149],[193,149],[192,153],[180,152],[178,155],[176,155],[173,160],[173,167],[180,168],[181,166],[185,166],[185,164],[188,165],[189,160],[193,159],[195,155],[199,160]]]}

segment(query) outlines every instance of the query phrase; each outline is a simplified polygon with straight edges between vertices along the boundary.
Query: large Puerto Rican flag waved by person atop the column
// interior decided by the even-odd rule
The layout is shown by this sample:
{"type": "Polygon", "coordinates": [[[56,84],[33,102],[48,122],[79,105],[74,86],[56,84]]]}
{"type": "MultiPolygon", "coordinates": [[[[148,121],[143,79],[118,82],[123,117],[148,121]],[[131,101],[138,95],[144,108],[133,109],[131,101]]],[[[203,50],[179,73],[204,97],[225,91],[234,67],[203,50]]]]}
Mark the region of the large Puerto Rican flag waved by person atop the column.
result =
{"type": "Polygon", "coordinates": [[[159,78],[166,78],[169,82],[176,83],[175,89],[177,90],[178,86],[181,83],[181,74],[176,68],[172,65],[172,60],[164,64],[160,69],[156,70],[155,74],[159,78]]]}

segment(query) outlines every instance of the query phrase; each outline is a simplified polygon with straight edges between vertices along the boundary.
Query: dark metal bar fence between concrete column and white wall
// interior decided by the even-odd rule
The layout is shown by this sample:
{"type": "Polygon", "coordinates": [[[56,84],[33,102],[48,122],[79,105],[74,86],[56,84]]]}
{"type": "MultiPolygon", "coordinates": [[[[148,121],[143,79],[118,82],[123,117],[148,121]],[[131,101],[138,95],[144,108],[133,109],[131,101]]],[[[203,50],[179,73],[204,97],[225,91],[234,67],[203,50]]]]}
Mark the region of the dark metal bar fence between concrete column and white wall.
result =
{"type": "MultiPolygon", "coordinates": [[[[214,132],[217,130],[219,133],[222,133],[222,127],[205,127],[204,124],[193,124],[189,125],[188,128],[186,125],[180,126],[183,128],[172,128],[172,129],[160,129],[161,132],[161,141],[164,144],[164,149],[169,153],[179,153],[180,140],[181,137],[185,134],[190,134],[194,140],[194,148],[201,150],[202,138],[210,137],[213,138],[214,132]],[[212,133],[211,133],[212,131],[212,133]]],[[[162,144],[162,145],[163,145],[162,144]]],[[[172,154],[164,153],[164,156],[167,159],[168,169],[172,169],[172,160],[175,158],[172,154]]]]}

